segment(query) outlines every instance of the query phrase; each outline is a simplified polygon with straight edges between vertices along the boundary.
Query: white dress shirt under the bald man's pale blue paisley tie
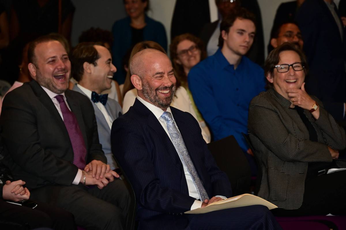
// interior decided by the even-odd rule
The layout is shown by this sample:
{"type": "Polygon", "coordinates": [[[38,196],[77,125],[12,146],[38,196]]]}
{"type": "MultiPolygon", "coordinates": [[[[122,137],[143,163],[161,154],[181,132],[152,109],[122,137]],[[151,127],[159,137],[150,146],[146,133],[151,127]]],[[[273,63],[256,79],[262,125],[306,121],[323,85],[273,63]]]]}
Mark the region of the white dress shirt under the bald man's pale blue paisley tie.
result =
{"type": "MultiPolygon", "coordinates": [[[[156,107],[155,105],[153,105],[153,104],[151,104],[151,103],[149,103],[149,102],[143,100],[143,99],[140,98],[139,96],[137,96],[137,99],[138,99],[140,102],[142,102],[152,113],[154,113],[155,117],[156,117],[157,120],[160,122],[162,128],[166,131],[166,134],[168,135],[168,137],[169,137],[170,140],[172,141],[172,138],[171,138],[171,136],[169,135],[169,132],[168,132],[168,129],[167,129],[166,121],[165,121],[163,118],[161,118],[161,115],[163,114],[164,111],[163,111],[162,109],[156,107]]],[[[167,112],[170,112],[170,113],[172,114],[171,108],[170,108],[170,107],[168,107],[166,111],[167,111],[167,112]]],[[[173,118],[173,121],[174,121],[173,114],[172,114],[172,118],[173,118]]],[[[174,123],[175,123],[175,121],[174,121],[174,123]]],[[[178,131],[179,131],[179,128],[178,128],[177,125],[176,125],[176,128],[177,128],[178,131]]],[[[179,131],[179,132],[180,132],[180,131],[179,131]]],[[[173,146],[174,146],[174,145],[173,145],[173,146]]],[[[175,148],[175,146],[174,146],[174,148],[175,148]]],[[[175,148],[175,150],[177,150],[177,149],[175,148]]],[[[178,155],[179,155],[179,154],[178,154],[178,155]]],[[[181,160],[180,155],[179,155],[179,158],[180,158],[180,160],[181,160]]],[[[197,191],[197,188],[196,188],[196,186],[195,186],[195,184],[194,184],[194,182],[193,182],[193,180],[192,180],[192,177],[191,177],[191,175],[190,175],[188,169],[185,167],[185,165],[184,165],[183,162],[182,162],[182,164],[183,164],[183,169],[184,169],[184,174],[185,174],[186,182],[187,182],[187,184],[188,184],[189,196],[191,196],[191,197],[193,197],[193,198],[196,199],[196,200],[194,201],[194,203],[192,204],[192,206],[191,206],[191,210],[200,208],[201,205],[202,205],[202,201],[198,201],[198,200],[197,200],[197,199],[200,199],[199,194],[198,194],[198,191],[197,191]]]]}

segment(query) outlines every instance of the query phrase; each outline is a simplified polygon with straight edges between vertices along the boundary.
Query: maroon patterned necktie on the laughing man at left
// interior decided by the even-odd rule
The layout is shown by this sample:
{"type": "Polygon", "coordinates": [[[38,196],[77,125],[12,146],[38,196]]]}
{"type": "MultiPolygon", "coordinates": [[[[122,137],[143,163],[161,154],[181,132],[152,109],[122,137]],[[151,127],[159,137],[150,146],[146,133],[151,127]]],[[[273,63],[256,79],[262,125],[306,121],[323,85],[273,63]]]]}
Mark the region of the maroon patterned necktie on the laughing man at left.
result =
{"type": "Polygon", "coordinates": [[[63,95],[56,95],[55,98],[59,102],[65,127],[67,129],[67,132],[69,133],[74,155],[73,164],[83,170],[85,167],[86,148],[77,119],[74,116],[73,112],[71,112],[69,108],[67,108],[63,95]]]}

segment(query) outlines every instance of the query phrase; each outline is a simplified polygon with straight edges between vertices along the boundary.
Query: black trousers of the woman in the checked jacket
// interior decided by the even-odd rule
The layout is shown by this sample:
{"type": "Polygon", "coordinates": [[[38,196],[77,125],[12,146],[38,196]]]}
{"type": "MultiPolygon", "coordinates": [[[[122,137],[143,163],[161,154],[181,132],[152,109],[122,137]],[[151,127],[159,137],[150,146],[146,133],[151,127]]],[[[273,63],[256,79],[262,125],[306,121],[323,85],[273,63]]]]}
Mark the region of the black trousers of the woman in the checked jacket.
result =
{"type": "Polygon", "coordinates": [[[276,216],[346,214],[346,170],[316,176],[306,181],[299,209],[272,209],[276,216]]]}

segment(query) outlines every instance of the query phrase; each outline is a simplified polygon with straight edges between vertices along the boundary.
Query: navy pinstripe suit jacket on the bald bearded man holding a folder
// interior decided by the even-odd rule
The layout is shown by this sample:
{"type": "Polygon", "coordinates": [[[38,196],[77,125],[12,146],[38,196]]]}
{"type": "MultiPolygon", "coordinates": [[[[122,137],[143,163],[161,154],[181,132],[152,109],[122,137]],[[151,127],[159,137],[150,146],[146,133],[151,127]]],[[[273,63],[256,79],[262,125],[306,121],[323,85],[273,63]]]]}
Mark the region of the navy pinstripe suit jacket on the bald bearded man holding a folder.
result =
{"type": "MultiPolygon", "coordinates": [[[[173,107],[171,111],[209,197],[230,197],[229,180],[210,154],[198,122],[190,113],[173,107]]],[[[189,196],[179,155],[160,122],[139,100],[113,122],[111,142],[134,187],[137,219],[190,210],[195,199],[189,196]]]]}

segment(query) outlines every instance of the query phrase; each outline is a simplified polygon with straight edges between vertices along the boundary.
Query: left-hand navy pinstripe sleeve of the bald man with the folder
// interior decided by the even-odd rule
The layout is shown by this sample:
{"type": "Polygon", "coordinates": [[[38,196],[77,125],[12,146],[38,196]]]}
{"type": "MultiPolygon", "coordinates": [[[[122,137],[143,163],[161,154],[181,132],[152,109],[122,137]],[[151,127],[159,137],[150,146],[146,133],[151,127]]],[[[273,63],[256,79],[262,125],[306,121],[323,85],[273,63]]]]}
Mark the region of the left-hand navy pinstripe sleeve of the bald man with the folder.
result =
{"type": "MultiPolygon", "coordinates": [[[[112,152],[129,178],[140,206],[164,213],[190,210],[194,198],[165,187],[155,175],[153,151],[146,144],[144,132],[135,121],[119,117],[111,131],[112,152]],[[114,150],[113,150],[114,149],[114,150]]],[[[173,172],[172,172],[173,173],[173,172]]]]}

